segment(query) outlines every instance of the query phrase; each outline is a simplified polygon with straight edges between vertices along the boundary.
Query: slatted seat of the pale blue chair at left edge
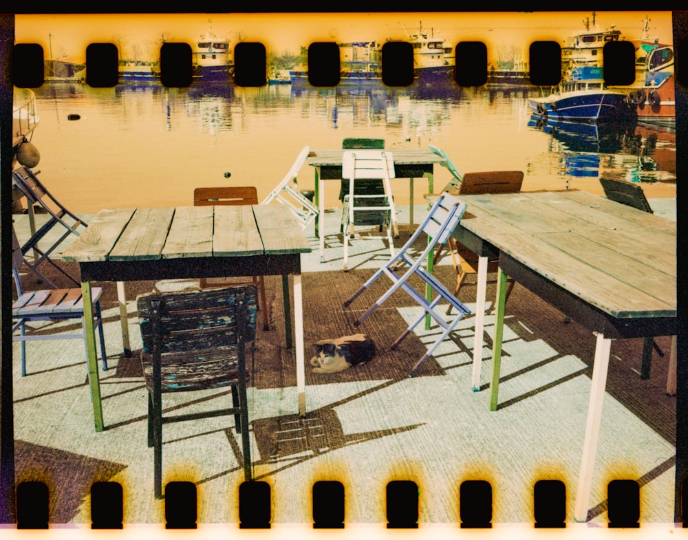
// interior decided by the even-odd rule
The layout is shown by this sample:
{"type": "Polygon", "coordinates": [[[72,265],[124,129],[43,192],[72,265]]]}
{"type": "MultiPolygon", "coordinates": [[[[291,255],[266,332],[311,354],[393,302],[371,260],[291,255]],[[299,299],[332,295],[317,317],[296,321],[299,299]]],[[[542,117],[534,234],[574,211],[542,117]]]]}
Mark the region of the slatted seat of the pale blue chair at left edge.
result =
{"type": "MultiPolygon", "coordinates": [[[[100,299],[103,289],[94,287],[91,290],[93,302],[100,299]]],[[[12,316],[15,318],[39,318],[50,316],[57,318],[63,313],[73,317],[75,313],[83,312],[84,303],[81,289],[44,289],[29,291],[21,294],[12,303],[12,316]]]]}

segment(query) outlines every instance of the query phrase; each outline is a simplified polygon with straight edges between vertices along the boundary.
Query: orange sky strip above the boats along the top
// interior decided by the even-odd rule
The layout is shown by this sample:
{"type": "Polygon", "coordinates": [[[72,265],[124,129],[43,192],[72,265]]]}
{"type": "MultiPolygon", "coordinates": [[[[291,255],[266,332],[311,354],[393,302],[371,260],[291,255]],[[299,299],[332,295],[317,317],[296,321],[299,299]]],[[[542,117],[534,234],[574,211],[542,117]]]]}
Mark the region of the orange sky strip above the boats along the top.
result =
{"type": "MultiPolygon", "coordinates": [[[[671,43],[671,12],[598,12],[601,28],[616,25],[626,39],[641,36],[645,17],[649,29],[662,43],[671,43]]],[[[232,43],[260,41],[268,50],[281,54],[299,52],[300,45],[312,41],[380,41],[405,39],[423,30],[455,44],[459,41],[484,41],[488,54],[497,47],[510,45],[527,49],[530,41],[563,41],[583,28],[590,12],[403,12],[403,13],[279,13],[279,14],[17,14],[17,43],[39,43],[45,56],[83,55],[86,45],[119,41],[125,56],[138,59],[149,56],[166,41],[193,43],[209,28],[232,43]],[[48,35],[51,34],[50,40],[48,35]]],[[[519,51],[518,51],[519,52],[519,51]]]]}

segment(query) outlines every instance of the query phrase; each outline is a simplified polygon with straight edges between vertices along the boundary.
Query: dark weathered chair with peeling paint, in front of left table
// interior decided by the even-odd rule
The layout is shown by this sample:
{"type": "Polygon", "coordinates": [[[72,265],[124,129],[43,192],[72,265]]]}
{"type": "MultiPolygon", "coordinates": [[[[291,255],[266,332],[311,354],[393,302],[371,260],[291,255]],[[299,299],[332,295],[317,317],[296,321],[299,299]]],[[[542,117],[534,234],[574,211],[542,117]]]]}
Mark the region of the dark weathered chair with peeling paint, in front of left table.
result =
{"type": "Polygon", "coordinates": [[[255,341],[256,286],[148,293],[139,295],[136,303],[148,390],[148,446],[153,447],[155,497],[162,498],[162,426],[169,422],[234,415],[235,429],[241,434],[244,479],[250,480],[246,345],[255,341]],[[233,407],[162,413],[163,393],[227,386],[232,390],[233,407]]]}

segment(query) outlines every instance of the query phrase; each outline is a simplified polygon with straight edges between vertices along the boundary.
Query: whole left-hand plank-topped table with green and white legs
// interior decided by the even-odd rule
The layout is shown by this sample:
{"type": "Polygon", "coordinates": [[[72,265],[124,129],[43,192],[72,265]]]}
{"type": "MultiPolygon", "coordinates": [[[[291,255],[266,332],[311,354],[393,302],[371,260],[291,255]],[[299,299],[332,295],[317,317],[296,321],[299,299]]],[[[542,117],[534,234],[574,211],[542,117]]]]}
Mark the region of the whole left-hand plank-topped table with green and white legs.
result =
{"type": "Polygon", "coordinates": [[[129,347],[125,281],[281,275],[287,346],[291,346],[289,275],[293,276],[299,413],[305,414],[301,253],[311,248],[290,209],[264,206],[181,206],[102,210],[63,253],[79,263],[84,299],[89,384],[96,431],[103,409],[96,364],[92,281],[117,281],[122,341],[129,347]]]}

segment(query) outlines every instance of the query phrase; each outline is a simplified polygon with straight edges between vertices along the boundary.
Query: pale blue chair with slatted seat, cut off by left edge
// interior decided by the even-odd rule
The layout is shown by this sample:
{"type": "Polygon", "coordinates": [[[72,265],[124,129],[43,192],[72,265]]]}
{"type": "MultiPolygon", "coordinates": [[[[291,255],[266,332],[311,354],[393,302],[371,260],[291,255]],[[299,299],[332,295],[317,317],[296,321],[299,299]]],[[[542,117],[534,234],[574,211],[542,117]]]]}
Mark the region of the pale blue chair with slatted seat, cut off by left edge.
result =
{"type": "MultiPolygon", "coordinates": [[[[86,332],[84,330],[84,305],[80,288],[72,289],[47,289],[24,291],[19,281],[19,268],[23,265],[23,255],[19,247],[17,235],[12,227],[12,276],[14,286],[17,288],[17,300],[12,302],[12,341],[21,342],[21,376],[26,375],[26,342],[39,339],[83,339],[86,345],[86,332]],[[80,319],[81,332],[72,334],[50,334],[45,332],[26,333],[26,323],[32,321],[61,322],[68,319],[80,319]],[[19,335],[14,332],[19,330],[19,335]]],[[[107,354],[105,352],[105,336],[103,336],[103,317],[100,314],[100,296],[103,289],[94,287],[91,289],[94,305],[94,324],[98,329],[100,338],[100,356],[103,358],[103,371],[107,371],[107,354]]],[[[85,349],[87,351],[87,349],[85,349]]],[[[86,354],[88,357],[88,353],[86,354]]]]}

